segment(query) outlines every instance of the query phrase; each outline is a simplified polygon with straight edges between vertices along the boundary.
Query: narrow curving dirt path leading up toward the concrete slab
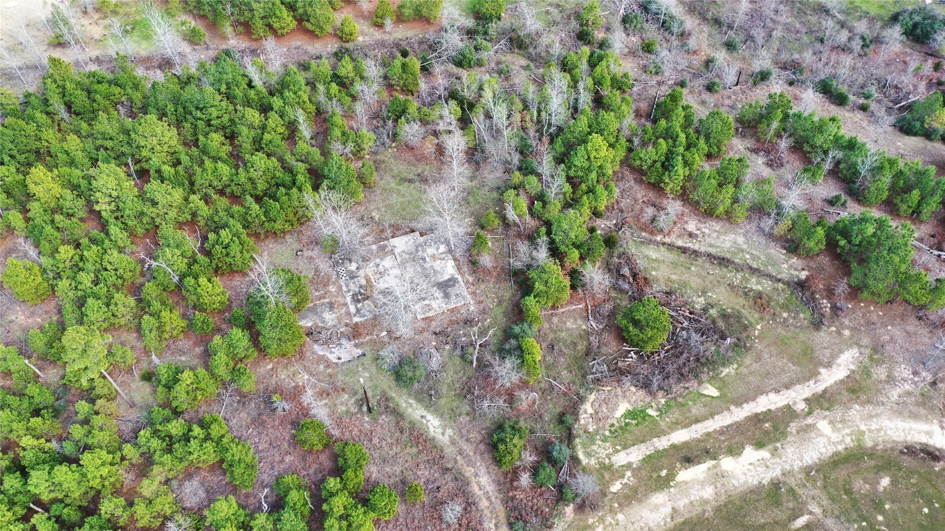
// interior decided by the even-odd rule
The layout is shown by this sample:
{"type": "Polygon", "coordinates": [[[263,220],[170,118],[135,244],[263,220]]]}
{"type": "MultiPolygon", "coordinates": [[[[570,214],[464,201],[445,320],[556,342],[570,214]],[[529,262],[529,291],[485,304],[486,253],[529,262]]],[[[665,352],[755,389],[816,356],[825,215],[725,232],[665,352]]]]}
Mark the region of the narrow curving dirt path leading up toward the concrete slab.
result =
{"type": "Polygon", "coordinates": [[[470,491],[479,514],[482,515],[483,527],[490,531],[507,531],[506,508],[502,505],[502,498],[492,483],[486,463],[472,452],[466,441],[456,437],[451,428],[445,426],[442,420],[424,409],[421,404],[405,396],[387,394],[391,400],[398,403],[405,416],[420,422],[434,442],[443,448],[447,455],[455,459],[459,471],[469,481],[470,491]]]}

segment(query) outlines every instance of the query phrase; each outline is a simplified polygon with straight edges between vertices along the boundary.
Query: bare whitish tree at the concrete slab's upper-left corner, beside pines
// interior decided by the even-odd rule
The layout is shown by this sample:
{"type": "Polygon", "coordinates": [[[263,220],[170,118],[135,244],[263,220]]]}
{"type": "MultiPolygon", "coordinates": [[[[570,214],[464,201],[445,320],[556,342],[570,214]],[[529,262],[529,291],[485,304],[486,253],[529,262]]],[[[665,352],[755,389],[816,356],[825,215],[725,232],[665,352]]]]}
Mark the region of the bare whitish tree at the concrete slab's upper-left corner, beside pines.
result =
{"type": "Polygon", "coordinates": [[[305,202],[318,226],[319,236],[335,238],[338,254],[353,259],[365,252],[368,229],[355,214],[351,197],[326,189],[318,195],[307,194],[305,202]]]}

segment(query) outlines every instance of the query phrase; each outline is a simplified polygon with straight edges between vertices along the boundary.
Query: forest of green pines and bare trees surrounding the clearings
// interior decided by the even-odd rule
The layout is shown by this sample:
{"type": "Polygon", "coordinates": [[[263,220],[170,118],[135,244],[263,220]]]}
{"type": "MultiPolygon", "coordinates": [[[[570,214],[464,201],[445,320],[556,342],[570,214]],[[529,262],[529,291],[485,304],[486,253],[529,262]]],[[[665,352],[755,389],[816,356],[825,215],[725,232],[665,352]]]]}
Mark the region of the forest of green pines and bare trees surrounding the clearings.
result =
{"type": "MultiPolygon", "coordinates": [[[[371,245],[395,235],[376,221],[375,201],[390,193],[382,192],[390,175],[381,169],[389,153],[436,167],[411,199],[422,219],[398,230],[437,238],[470,291],[482,291],[472,295],[483,315],[497,313],[494,321],[475,318],[474,332],[472,317],[451,324],[448,334],[460,339],[424,353],[426,342],[411,341],[438,326],[418,318],[429,288],[401,279],[403,289],[378,295],[377,318],[365,325],[376,328],[364,339],[369,364],[358,367],[386,374],[391,397],[421,400],[424,385],[454,367],[436,358],[462,366],[470,378],[461,384],[464,411],[480,422],[490,470],[503,474],[508,490],[514,483],[541,492],[533,494],[540,501],[518,493],[503,500],[516,531],[547,528],[563,506],[593,513],[607,499],[600,473],[576,455],[575,427],[594,378],[603,376],[576,373],[579,388],[558,382],[558,361],[547,358],[566,350],[551,339],[559,312],[586,307],[578,322],[592,350],[572,352],[582,370],[603,367],[594,364],[605,363],[608,349],[630,356],[602,369],[618,386],[646,386],[622,372],[629,366],[668,368],[644,389],[660,400],[748,349],[736,337],[748,333],[725,318],[729,310],[711,317],[712,309],[672,293],[676,287],[652,285],[651,267],[628,258],[637,231],[667,238],[684,208],[723,231],[757,226],[767,246],[839,271],[844,297],[852,289],[869,304],[906,306],[929,322],[941,316],[945,276],[916,244],[928,244],[933,257],[941,252],[928,228],[940,234],[945,180],[936,163],[904,157],[892,144],[871,147],[877,143],[851,130],[850,93],[863,100],[862,113],[879,100],[875,91],[866,97],[849,78],[803,66],[782,82],[771,64],[741,81],[758,91],[737,93],[734,108],[707,100],[736,94],[740,81],[715,56],[688,77],[670,77],[678,58],[666,52],[684,42],[693,21],[658,0],[580,2],[560,15],[573,30],[561,34],[570,39],[563,47],[539,35],[540,18],[557,19],[528,3],[473,0],[463,18],[445,4],[143,3],[129,16],[155,39],[160,75],[143,71],[142,54],[116,49],[101,68],[49,55],[38,86],[0,89],[0,243],[11,249],[0,264],[3,304],[10,316],[14,307],[49,312],[22,334],[0,335],[0,527],[369,530],[394,528],[387,525],[404,505],[426,507],[417,477],[378,482],[366,476],[369,443],[337,437],[332,418],[361,413],[305,411],[279,437],[331,455],[330,475],[313,482],[308,471],[281,467],[293,472],[265,485],[260,468],[278,456],[261,457],[249,432],[224,415],[232,397],[253,397],[272,415],[298,410],[281,389],[258,385],[259,371],[294,371],[318,343],[300,313],[322,296],[326,277],[313,281],[262,249],[298,237],[313,249],[303,256],[317,253],[318,264],[369,256],[371,245]],[[202,26],[168,26],[168,41],[148,17],[168,24],[201,17],[202,26]],[[430,39],[392,40],[383,52],[359,46],[359,31],[389,34],[398,22],[424,25],[430,39]],[[266,44],[195,60],[184,53],[185,34],[202,43],[201,27],[266,44]],[[335,34],[340,43],[298,61],[266,51],[300,30],[335,34]],[[630,55],[618,35],[648,38],[630,55]],[[642,72],[631,76],[631,66],[642,72]],[[813,109],[789,94],[802,83],[819,98],[813,109]],[[809,199],[828,186],[836,191],[829,202],[809,199]],[[628,190],[653,205],[632,222],[628,190]],[[228,289],[234,279],[248,289],[228,289]],[[510,303],[480,299],[492,286],[508,290],[510,303]],[[172,355],[181,340],[199,353],[172,355]],[[151,389],[146,403],[118,382],[132,373],[151,389]],[[533,419],[529,404],[537,409],[552,395],[568,405],[549,409],[553,420],[533,419]],[[200,510],[181,505],[184,476],[215,467],[235,495],[200,510]]],[[[945,32],[945,15],[936,13],[902,9],[889,21],[900,42],[934,46],[945,32]]],[[[60,26],[56,45],[78,53],[72,35],[80,27],[73,19],[60,26]]],[[[822,43],[830,41],[828,32],[822,43]]],[[[887,126],[940,153],[942,61],[930,64],[937,85],[902,98],[909,106],[895,109],[887,126]]],[[[348,386],[357,401],[363,388],[369,401],[363,379],[348,386]]],[[[468,514],[472,504],[466,514],[463,506],[438,502],[427,511],[430,528],[481,528],[468,514]]]]}

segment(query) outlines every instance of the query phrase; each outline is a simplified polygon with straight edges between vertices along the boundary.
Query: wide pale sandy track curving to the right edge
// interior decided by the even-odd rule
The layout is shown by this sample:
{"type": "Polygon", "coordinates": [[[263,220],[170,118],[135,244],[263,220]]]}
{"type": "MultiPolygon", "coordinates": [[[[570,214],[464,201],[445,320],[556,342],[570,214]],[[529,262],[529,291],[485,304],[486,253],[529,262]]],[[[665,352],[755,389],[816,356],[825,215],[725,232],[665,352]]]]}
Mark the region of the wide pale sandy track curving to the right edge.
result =
{"type": "Polygon", "coordinates": [[[877,447],[921,444],[945,450],[943,420],[911,420],[902,410],[854,408],[805,421],[805,427],[782,444],[741,457],[726,457],[697,465],[678,476],[678,485],[627,506],[597,522],[597,529],[665,529],[727,497],[781,476],[810,467],[837,452],[855,446],[877,447]]]}

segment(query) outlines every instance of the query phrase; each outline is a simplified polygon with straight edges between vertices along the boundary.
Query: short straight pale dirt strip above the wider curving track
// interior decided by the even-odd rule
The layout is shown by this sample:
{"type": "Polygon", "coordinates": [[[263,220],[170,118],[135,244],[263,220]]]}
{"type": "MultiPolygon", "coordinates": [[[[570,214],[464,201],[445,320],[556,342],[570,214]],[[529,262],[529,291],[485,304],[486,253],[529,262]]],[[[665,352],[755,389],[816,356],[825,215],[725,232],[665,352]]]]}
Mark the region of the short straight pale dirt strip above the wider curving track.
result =
{"type": "Polygon", "coordinates": [[[626,450],[611,455],[610,463],[615,467],[620,467],[627,463],[636,463],[645,456],[668,448],[673,444],[704,436],[721,427],[746,419],[751,415],[763,413],[769,409],[777,409],[788,403],[802,401],[846,378],[856,365],[858,359],[859,351],[857,349],[853,348],[844,351],[830,367],[821,368],[820,374],[812,380],[782,391],[766,393],[749,403],[732,406],[729,411],[720,413],[712,419],[703,420],[669,435],[656,437],[636,446],[631,446],[626,450]]]}

